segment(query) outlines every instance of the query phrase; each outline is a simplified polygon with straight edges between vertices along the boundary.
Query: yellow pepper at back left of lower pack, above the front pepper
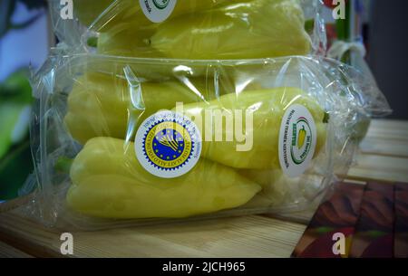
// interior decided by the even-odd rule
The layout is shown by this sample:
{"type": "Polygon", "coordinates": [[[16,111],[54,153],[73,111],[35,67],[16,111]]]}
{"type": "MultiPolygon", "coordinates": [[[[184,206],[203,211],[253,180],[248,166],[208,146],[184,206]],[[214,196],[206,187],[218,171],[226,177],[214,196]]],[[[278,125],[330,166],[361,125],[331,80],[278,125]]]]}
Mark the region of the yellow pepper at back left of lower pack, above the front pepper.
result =
{"type": "MultiPolygon", "coordinates": [[[[201,87],[197,90],[205,91],[201,87]]],[[[131,128],[154,112],[171,109],[178,101],[199,101],[200,97],[205,96],[179,81],[142,82],[140,90],[131,91],[127,81],[116,76],[88,72],[73,85],[64,122],[81,143],[93,137],[125,138],[131,128]]]]}

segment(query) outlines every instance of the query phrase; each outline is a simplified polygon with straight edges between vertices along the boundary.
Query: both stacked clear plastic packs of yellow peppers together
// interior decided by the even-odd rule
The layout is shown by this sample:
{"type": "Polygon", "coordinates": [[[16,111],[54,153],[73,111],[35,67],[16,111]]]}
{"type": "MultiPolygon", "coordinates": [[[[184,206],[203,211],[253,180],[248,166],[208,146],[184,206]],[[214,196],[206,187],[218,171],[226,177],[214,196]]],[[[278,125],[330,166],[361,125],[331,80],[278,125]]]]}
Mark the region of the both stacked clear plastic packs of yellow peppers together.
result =
{"type": "Polygon", "coordinates": [[[389,110],[359,71],[311,55],[305,3],[73,4],[34,77],[45,224],[298,210],[349,167],[359,116],[389,110]]]}

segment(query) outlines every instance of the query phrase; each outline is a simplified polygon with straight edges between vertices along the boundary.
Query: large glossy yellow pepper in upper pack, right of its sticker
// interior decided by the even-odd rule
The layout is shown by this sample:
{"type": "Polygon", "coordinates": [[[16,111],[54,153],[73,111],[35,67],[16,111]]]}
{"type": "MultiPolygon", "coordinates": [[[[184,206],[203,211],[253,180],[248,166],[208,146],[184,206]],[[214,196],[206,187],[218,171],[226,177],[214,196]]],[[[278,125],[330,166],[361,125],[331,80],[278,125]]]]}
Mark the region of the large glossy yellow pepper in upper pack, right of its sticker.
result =
{"type": "Polygon", "coordinates": [[[185,14],[160,24],[151,46],[169,58],[250,59],[310,51],[296,0],[254,0],[185,14]]]}

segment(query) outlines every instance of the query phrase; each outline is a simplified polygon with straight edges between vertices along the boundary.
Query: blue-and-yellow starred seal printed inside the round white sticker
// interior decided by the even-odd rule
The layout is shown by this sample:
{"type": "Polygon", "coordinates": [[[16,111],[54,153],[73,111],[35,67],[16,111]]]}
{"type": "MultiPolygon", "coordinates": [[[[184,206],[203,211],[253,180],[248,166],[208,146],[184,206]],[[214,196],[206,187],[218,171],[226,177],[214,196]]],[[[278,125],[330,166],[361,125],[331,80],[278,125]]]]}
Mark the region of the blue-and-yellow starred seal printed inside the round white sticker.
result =
{"type": "Polygon", "coordinates": [[[143,144],[151,165],[164,170],[182,167],[194,148],[186,126],[176,121],[161,121],[153,125],[147,131],[143,144]]]}

